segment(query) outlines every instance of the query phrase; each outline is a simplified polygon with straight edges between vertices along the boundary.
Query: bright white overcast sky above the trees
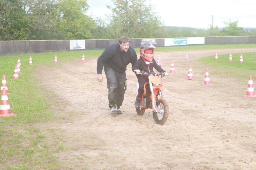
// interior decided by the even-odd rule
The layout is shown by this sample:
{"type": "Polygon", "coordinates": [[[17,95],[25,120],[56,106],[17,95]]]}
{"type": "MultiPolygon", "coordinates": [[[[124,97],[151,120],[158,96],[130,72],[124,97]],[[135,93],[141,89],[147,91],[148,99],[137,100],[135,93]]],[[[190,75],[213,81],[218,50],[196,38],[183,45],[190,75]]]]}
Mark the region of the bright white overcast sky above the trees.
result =
{"type": "MultiPolygon", "coordinates": [[[[87,0],[88,15],[106,18],[111,14],[106,5],[111,0],[87,0]]],[[[224,23],[238,21],[238,27],[256,28],[256,0],[150,0],[153,11],[165,26],[207,29],[225,27],[224,23]]]]}

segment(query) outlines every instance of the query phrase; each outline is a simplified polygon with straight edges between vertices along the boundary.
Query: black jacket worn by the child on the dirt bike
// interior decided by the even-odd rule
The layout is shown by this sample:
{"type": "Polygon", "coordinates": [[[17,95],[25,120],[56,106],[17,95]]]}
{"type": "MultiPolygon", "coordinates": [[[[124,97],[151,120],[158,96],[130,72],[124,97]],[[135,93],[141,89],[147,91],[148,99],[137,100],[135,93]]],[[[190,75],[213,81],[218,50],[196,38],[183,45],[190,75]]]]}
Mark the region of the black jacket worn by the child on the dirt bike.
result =
{"type": "Polygon", "coordinates": [[[153,68],[155,68],[160,73],[161,72],[163,72],[163,73],[166,72],[159,65],[157,65],[156,60],[153,59],[151,63],[146,64],[146,62],[144,60],[142,60],[141,57],[136,61],[136,63],[132,67],[132,71],[134,71],[134,70],[141,70],[142,71],[143,70],[147,73],[152,73],[152,72],[154,72],[153,68]]]}

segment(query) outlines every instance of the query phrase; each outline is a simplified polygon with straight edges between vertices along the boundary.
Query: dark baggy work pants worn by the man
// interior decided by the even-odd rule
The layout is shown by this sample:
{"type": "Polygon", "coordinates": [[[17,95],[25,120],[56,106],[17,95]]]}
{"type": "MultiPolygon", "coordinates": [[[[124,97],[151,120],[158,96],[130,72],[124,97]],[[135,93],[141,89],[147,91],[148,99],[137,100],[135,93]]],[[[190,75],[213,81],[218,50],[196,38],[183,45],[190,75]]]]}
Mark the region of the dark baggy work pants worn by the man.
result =
{"type": "Polygon", "coordinates": [[[104,67],[107,77],[107,88],[109,89],[109,108],[113,106],[120,107],[124,101],[126,90],[126,74],[119,73],[109,67],[104,67]]]}

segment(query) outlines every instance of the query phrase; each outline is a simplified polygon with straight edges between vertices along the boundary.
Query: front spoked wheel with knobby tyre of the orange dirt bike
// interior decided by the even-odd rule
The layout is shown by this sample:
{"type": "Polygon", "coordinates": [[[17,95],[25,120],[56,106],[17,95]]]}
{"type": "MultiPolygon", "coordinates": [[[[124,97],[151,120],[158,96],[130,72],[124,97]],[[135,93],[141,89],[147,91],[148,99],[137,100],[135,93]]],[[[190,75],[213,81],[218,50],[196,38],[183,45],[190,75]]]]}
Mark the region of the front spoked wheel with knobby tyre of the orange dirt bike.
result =
{"type": "Polygon", "coordinates": [[[157,99],[156,101],[157,109],[153,111],[153,118],[157,124],[163,125],[169,115],[169,106],[167,101],[164,99],[157,99]]]}

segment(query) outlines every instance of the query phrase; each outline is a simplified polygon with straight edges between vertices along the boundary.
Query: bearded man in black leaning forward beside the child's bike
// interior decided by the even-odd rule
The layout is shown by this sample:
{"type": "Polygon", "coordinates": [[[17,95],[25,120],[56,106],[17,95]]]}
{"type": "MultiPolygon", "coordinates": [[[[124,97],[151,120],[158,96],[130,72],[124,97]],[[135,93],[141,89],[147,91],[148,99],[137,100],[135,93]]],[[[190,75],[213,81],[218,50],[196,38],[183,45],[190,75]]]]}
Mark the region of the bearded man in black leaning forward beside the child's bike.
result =
{"type": "Polygon", "coordinates": [[[107,47],[97,60],[97,80],[103,81],[102,70],[107,77],[107,88],[109,89],[109,108],[112,114],[122,114],[120,106],[124,101],[126,89],[125,70],[129,63],[134,66],[137,54],[132,47],[129,47],[130,39],[122,36],[119,43],[107,47]]]}

